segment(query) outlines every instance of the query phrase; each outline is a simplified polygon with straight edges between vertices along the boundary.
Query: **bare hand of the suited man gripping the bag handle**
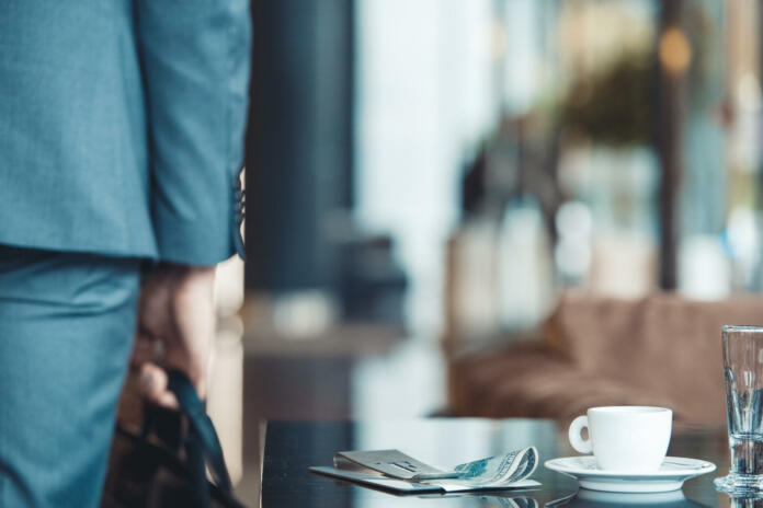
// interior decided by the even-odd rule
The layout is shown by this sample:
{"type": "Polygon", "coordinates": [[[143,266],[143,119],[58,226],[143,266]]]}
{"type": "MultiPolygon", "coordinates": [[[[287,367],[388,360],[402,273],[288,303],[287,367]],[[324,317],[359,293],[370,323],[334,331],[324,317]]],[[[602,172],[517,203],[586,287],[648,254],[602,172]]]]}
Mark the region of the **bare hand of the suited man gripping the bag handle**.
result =
{"type": "Polygon", "coordinates": [[[215,336],[215,267],[162,264],[144,282],[132,367],[150,401],[178,407],[167,390],[167,374],[157,365],[185,372],[201,397],[215,336]],[[159,355],[157,355],[159,351],[159,355]]]}

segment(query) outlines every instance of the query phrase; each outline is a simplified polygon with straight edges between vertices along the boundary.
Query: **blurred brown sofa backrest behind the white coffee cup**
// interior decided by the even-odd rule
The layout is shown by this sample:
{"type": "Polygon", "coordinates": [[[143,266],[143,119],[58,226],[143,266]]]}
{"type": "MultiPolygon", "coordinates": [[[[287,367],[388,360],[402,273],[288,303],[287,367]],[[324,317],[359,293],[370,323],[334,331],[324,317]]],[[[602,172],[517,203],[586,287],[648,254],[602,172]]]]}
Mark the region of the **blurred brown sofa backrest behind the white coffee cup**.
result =
{"type": "Polygon", "coordinates": [[[725,324],[763,324],[763,299],[699,302],[657,293],[627,301],[567,293],[548,321],[546,340],[585,373],[722,422],[725,324]]]}

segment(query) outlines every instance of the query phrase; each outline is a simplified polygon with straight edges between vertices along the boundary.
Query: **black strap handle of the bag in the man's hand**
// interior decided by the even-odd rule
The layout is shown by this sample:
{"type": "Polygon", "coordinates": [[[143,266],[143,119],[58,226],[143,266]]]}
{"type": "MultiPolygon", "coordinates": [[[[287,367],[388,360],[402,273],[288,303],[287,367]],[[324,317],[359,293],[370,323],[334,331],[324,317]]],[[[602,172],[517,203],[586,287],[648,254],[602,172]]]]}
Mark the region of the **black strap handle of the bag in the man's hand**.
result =
{"type": "Polygon", "coordinates": [[[206,480],[206,466],[208,466],[218,494],[225,503],[228,506],[243,508],[243,505],[234,497],[234,487],[228,467],[225,465],[223,447],[196,389],[187,376],[180,370],[168,369],[167,376],[167,388],[178,399],[180,411],[187,417],[190,424],[184,444],[189,473],[196,488],[198,506],[210,506],[209,484],[206,480]]]}

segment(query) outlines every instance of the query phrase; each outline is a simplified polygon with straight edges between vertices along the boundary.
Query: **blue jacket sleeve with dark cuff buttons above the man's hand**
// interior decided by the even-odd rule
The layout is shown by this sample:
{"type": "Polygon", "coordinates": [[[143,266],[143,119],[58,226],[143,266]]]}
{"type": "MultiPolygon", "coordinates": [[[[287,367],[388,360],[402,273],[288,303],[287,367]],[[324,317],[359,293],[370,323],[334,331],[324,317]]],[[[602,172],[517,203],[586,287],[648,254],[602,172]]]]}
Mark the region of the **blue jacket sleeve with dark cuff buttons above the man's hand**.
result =
{"type": "Polygon", "coordinates": [[[159,257],[213,265],[243,255],[249,0],[135,1],[159,257]]]}

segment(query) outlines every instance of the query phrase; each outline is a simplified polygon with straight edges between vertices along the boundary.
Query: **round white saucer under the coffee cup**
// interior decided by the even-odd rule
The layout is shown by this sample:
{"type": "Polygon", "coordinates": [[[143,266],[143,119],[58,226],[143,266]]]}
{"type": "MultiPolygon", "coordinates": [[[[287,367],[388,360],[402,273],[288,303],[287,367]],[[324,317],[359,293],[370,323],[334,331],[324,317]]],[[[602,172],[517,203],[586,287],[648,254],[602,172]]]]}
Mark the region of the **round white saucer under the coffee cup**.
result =
{"type": "Polygon", "coordinates": [[[665,457],[660,470],[653,473],[602,471],[592,455],[551,459],[544,465],[572,476],[583,488],[618,493],[677,490],[686,480],[715,471],[713,462],[680,457],[665,457]]]}

